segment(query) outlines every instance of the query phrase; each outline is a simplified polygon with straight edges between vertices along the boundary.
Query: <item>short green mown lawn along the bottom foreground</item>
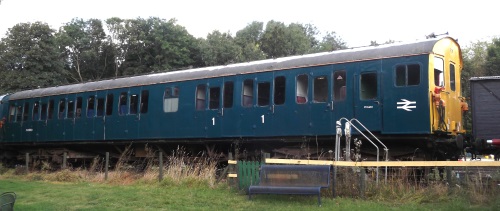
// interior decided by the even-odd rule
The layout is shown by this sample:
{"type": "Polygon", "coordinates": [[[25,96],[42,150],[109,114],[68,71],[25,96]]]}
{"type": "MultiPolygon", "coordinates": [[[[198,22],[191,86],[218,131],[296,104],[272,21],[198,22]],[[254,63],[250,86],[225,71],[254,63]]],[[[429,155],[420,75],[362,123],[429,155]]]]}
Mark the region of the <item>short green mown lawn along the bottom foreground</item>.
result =
{"type": "Polygon", "coordinates": [[[498,210],[500,203],[471,205],[462,199],[441,203],[387,203],[351,198],[246,195],[221,184],[103,184],[0,180],[1,191],[18,195],[16,210],[498,210]]]}

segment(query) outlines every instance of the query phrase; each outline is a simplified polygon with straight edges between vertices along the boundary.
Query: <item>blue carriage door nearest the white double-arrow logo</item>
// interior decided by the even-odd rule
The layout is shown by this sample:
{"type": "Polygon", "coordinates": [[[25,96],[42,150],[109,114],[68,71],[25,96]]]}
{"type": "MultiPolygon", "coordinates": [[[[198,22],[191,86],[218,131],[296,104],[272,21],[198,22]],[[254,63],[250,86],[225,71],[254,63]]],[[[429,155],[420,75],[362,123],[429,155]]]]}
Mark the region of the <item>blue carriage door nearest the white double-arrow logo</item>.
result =
{"type": "MultiPolygon", "coordinates": [[[[370,131],[382,129],[380,100],[380,77],[376,71],[361,71],[355,76],[356,97],[354,99],[354,117],[370,131]]],[[[360,128],[361,129],[361,128],[360,128]]]]}

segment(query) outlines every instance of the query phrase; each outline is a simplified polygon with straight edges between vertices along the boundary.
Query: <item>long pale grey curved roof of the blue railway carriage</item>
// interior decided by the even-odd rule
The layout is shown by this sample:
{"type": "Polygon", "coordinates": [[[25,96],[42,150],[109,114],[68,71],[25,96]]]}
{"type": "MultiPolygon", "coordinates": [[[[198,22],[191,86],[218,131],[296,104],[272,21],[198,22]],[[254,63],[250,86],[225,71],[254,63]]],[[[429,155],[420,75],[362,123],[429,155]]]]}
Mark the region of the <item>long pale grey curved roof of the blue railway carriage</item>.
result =
{"type": "Polygon", "coordinates": [[[377,47],[363,47],[347,50],[339,50],[325,53],[308,54],[301,56],[267,59],[246,63],[231,64],[226,66],[214,66],[196,68],[182,71],[164,72],[150,75],[125,77],[96,82],[87,82],[50,88],[40,88],[14,93],[10,100],[37,98],[53,95],[64,95],[88,91],[98,91],[143,85],[168,83],[175,81],[196,80],[221,76],[231,76],[266,72],[273,70],[286,70],[298,67],[313,67],[329,64],[366,61],[382,58],[393,58],[413,56],[432,53],[433,47],[441,39],[436,38],[411,43],[396,43],[381,45],[377,47]]]}

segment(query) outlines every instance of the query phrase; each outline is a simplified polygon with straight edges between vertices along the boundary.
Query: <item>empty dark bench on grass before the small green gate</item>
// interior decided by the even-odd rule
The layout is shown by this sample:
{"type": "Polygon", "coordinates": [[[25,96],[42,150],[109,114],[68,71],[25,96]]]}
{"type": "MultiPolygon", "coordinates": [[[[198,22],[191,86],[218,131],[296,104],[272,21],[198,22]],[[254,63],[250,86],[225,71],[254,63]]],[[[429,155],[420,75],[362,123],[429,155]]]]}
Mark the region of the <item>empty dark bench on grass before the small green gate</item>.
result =
{"type": "Polygon", "coordinates": [[[258,185],[248,188],[252,194],[318,195],[321,206],[321,188],[330,187],[329,165],[262,165],[258,185]]]}

